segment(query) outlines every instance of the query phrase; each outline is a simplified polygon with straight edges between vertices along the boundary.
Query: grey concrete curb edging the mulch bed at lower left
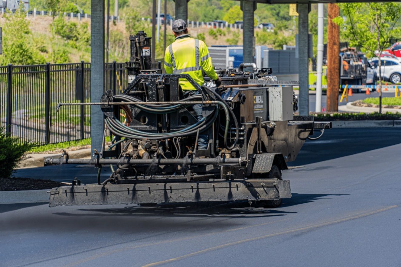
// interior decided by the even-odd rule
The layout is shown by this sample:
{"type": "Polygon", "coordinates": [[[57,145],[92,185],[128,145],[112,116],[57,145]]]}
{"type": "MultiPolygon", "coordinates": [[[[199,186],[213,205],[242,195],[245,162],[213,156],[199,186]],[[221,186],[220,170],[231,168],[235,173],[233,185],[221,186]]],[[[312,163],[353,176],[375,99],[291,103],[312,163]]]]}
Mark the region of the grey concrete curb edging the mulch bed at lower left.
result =
{"type": "Polygon", "coordinates": [[[0,191],[0,204],[49,202],[49,189],[0,191]]]}

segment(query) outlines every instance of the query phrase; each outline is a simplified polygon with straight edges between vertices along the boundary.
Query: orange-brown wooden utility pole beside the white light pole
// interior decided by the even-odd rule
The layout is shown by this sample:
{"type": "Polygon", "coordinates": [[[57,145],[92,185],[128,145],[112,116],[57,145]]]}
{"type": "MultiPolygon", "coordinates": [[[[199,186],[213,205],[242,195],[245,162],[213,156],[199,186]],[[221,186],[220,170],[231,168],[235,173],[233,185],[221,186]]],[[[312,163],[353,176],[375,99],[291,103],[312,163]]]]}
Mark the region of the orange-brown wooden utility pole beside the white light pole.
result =
{"type": "Polygon", "coordinates": [[[340,87],[340,27],[332,19],[340,16],[337,4],[328,4],[327,29],[327,111],[338,111],[340,87]]]}

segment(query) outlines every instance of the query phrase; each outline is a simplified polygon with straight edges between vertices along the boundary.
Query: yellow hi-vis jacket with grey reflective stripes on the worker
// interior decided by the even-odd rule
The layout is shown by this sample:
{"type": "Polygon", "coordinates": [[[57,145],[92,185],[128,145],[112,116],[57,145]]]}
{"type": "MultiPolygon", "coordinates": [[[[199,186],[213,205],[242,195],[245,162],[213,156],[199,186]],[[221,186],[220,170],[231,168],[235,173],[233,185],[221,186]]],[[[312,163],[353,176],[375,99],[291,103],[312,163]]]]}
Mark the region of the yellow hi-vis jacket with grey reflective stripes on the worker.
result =
{"type": "MultiPolygon", "coordinates": [[[[166,48],[164,70],[168,74],[189,74],[199,85],[205,83],[202,70],[212,80],[217,79],[205,42],[190,38],[188,34],[178,36],[175,42],[166,48]]],[[[179,82],[182,90],[196,90],[186,79],[180,79],[179,82]]]]}

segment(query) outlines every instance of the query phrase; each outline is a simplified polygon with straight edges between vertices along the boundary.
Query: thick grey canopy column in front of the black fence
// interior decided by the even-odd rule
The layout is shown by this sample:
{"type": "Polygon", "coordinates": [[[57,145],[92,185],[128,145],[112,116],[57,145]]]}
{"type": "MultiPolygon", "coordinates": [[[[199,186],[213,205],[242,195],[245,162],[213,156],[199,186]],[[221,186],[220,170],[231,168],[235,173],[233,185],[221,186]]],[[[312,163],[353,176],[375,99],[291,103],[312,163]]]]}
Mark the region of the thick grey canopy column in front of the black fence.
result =
{"type": "MultiPolygon", "coordinates": [[[[104,90],[104,0],[91,0],[91,102],[99,102],[104,90]]],[[[91,106],[91,149],[99,152],[103,139],[103,112],[91,106]]]]}

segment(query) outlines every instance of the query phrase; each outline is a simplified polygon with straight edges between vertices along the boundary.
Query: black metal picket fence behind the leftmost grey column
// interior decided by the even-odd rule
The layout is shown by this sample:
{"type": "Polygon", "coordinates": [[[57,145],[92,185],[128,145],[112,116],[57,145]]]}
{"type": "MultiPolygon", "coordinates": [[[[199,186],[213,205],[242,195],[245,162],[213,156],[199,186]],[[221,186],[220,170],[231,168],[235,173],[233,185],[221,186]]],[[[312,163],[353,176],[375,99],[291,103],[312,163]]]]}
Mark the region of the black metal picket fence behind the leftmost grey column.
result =
{"type": "MultiPolygon", "coordinates": [[[[0,125],[24,141],[58,143],[90,137],[90,63],[0,66],[0,125]]],[[[105,63],[105,90],[128,85],[125,63],[105,63]]]]}

